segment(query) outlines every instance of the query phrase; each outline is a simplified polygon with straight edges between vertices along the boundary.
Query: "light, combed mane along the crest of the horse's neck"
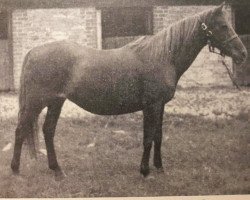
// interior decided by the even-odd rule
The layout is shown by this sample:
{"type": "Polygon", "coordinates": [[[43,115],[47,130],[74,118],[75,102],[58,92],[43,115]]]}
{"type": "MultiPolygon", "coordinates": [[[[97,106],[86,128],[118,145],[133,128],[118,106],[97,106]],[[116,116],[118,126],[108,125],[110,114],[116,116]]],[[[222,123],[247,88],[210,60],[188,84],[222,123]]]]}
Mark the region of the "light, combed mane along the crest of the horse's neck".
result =
{"type": "Polygon", "coordinates": [[[207,21],[213,12],[214,9],[209,9],[192,17],[186,17],[156,35],[142,36],[125,47],[129,47],[139,55],[145,53],[146,59],[150,62],[169,59],[171,55],[174,55],[174,52],[191,41],[199,22],[201,20],[207,21]]]}

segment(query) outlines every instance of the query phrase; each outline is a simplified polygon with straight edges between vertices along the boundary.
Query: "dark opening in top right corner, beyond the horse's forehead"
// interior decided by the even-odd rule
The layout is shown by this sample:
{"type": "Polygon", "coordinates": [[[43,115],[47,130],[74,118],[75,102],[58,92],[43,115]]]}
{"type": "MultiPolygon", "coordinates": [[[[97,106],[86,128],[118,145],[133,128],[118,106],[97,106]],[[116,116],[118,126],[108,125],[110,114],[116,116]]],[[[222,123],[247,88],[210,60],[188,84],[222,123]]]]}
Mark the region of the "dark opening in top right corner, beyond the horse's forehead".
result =
{"type": "Polygon", "coordinates": [[[235,29],[240,35],[250,34],[250,6],[235,7],[235,29]]]}

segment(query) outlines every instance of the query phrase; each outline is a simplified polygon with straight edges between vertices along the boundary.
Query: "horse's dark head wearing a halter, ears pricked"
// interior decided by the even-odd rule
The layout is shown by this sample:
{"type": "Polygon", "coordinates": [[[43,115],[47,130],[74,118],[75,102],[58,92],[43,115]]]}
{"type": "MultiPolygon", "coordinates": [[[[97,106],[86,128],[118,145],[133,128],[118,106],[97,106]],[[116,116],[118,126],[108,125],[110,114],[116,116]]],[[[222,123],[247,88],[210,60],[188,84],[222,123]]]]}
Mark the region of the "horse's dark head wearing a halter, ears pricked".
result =
{"type": "Polygon", "coordinates": [[[212,10],[209,21],[201,26],[210,43],[210,49],[216,47],[221,54],[232,57],[236,64],[242,64],[247,58],[247,50],[227,21],[224,6],[225,3],[212,10]]]}

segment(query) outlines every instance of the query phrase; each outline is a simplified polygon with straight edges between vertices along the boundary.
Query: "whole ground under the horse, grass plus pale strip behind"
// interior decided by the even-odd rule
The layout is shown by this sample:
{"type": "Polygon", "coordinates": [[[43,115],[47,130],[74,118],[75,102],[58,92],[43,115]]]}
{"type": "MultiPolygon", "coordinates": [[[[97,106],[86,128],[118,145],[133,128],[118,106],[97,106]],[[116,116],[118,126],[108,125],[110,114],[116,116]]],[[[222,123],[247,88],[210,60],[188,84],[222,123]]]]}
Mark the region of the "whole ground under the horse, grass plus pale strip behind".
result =
{"type": "MultiPolygon", "coordinates": [[[[11,173],[16,94],[0,95],[0,198],[216,195],[250,193],[250,90],[178,88],[166,105],[163,164],[139,174],[141,112],[104,117],[66,102],[55,138],[66,177],[47,167],[42,133],[38,160],[23,148],[21,173],[11,173]]],[[[45,113],[45,111],[43,112],[45,113]]],[[[40,118],[40,125],[44,114],[40,118]]]]}

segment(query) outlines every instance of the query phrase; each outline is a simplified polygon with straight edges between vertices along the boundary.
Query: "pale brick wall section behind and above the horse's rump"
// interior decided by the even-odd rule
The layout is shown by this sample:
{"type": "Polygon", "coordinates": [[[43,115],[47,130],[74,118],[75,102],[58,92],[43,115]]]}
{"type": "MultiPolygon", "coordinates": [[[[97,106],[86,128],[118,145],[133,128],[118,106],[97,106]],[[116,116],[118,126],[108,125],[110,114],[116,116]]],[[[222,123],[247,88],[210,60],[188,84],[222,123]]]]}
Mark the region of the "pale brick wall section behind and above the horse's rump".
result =
{"type": "Polygon", "coordinates": [[[22,62],[33,47],[69,39],[97,47],[95,8],[20,9],[12,14],[14,86],[19,87],[22,62]]]}

